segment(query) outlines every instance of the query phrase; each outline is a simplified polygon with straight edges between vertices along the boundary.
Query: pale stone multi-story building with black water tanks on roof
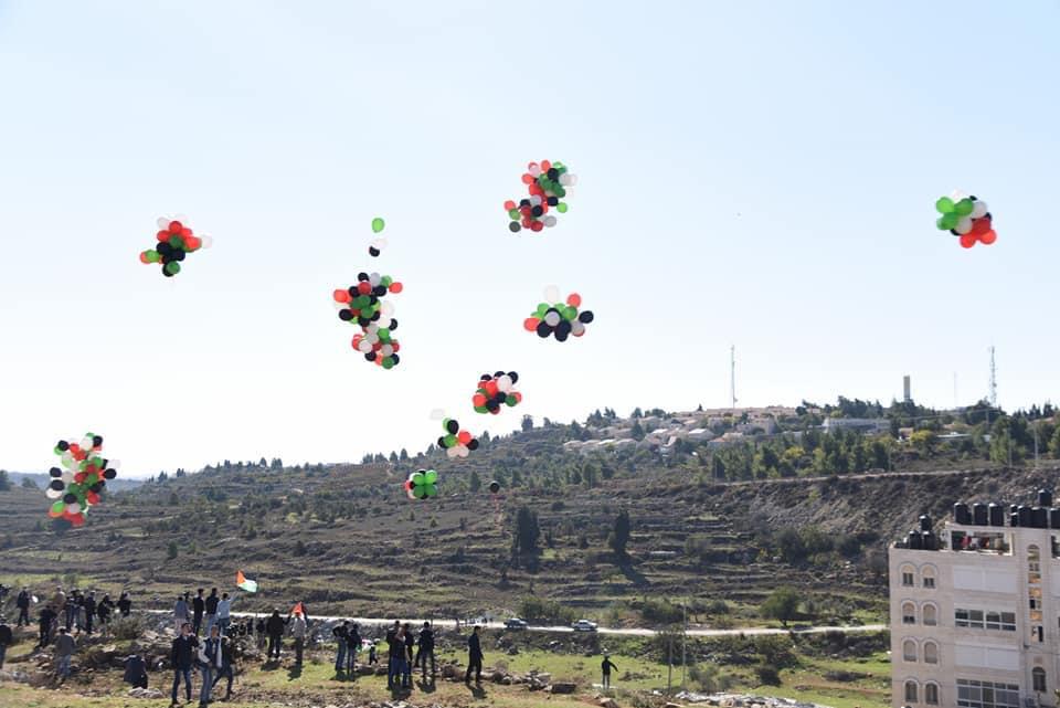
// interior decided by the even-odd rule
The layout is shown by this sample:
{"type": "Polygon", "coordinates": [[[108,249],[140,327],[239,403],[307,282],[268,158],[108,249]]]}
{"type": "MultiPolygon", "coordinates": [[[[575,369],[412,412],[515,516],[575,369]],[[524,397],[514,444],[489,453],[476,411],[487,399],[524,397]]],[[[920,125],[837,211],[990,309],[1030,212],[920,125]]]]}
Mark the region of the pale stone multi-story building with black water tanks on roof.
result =
{"type": "Polygon", "coordinates": [[[889,553],[895,708],[1056,707],[1060,509],[954,505],[889,553]],[[1051,528],[1050,528],[1051,527],[1051,528]]]}

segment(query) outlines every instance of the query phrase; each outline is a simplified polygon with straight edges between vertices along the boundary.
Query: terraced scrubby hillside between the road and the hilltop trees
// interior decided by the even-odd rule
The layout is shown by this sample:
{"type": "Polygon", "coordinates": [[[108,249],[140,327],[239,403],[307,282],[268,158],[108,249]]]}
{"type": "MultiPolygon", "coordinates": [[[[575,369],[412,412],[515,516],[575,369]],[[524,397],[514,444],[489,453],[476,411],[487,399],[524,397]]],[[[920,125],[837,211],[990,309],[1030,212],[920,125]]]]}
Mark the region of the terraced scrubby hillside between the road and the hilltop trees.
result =
{"type": "Polygon", "coordinates": [[[551,619],[643,624],[672,620],[672,605],[653,601],[689,599],[693,619],[718,625],[759,622],[757,604],[783,579],[807,593],[820,620],[856,621],[884,611],[882,551],[918,515],[941,518],[960,498],[1029,498],[1058,475],[940,456],[935,471],[913,459],[901,475],[719,484],[695,450],[564,452],[584,436],[585,429],[534,427],[456,462],[432,453],[210,467],[113,494],[84,529],[63,530],[45,517],[40,492],[14,487],[0,494],[0,579],[66,575],[66,584],[128,588],[141,601],[165,596],[168,606],[181,590],[231,588],[242,569],[262,587],[241,600],[244,609],[300,599],[327,614],[381,616],[412,604],[433,616],[500,615],[537,595],[569,609],[551,619]],[[941,474],[961,464],[979,468],[941,474]],[[401,482],[421,466],[439,472],[438,498],[404,496],[401,482]],[[486,488],[494,479],[496,497],[486,488]],[[537,516],[540,550],[513,554],[523,505],[537,516]],[[607,542],[623,509],[628,559],[607,542]],[[728,604],[711,606],[718,599],[728,604]]]}

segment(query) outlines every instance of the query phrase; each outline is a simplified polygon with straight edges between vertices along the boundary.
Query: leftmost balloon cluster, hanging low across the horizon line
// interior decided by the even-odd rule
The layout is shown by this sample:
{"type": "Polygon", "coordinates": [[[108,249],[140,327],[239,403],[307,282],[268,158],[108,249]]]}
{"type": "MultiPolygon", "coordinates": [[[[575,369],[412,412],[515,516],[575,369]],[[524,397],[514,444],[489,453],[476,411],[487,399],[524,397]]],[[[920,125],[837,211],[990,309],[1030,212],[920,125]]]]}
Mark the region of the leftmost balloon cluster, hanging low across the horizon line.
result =
{"type": "Polygon", "coordinates": [[[63,518],[81,526],[85,522],[88,507],[99,504],[99,493],[108,479],[118,473],[117,463],[110,464],[102,456],[103,437],[86,433],[80,443],[65,440],[55,445],[62,468],[52,467],[52,477],[44,495],[53,499],[47,515],[53,519],[63,518]]]}

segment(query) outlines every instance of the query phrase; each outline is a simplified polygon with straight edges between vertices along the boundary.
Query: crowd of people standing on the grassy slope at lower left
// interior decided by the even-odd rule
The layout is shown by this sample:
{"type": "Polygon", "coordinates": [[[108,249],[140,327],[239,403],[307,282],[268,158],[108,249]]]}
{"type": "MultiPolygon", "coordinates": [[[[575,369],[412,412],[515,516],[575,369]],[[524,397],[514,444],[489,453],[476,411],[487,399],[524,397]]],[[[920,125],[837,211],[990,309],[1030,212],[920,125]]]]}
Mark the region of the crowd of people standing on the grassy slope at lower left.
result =
{"type": "MultiPolygon", "coordinates": [[[[3,606],[6,592],[7,589],[0,585],[0,607],[3,606]]],[[[265,652],[265,661],[269,663],[279,661],[284,637],[289,636],[294,665],[301,666],[310,635],[310,620],[305,603],[296,603],[286,617],[280,614],[279,609],[274,609],[268,616],[248,616],[240,621],[232,614],[233,598],[229,593],[219,594],[216,588],[213,588],[209,595],[204,593],[205,589],[202,588],[193,598],[190,592],[183,593],[173,604],[176,637],[170,652],[170,666],[173,670],[171,705],[179,705],[181,684],[187,701],[192,701],[195,677],[199,678],[199,706],[204,707],[214,700],[213,688],[223,679],[226,680],[226,691],[221,700],[227,700],[237,674],[233,645],[240,637],[256,641],[257,648],[265,652]]],[[[41,602],[30,594],[28,588],[22,588],[14,602],[18,610],[15,630],[31,626],[30,609],[33,604],[43,605],[36,613],[38,640],[34,649],[52,647],[55,674],[60,680],[70,677],[71,659],[77,652],[78,641],[94,632],[106,635],[116,616],[128,617],[132,611],[132,600],[128,592],[123,592],[115,603],[108,594],[103,594],[97,600],[94,591],[83,593],[71,589],[66,592],[62,587],[57,587],[51,598],[41,602]]],[[[386,653],[388,688],[411,689],[412,675],[416,669],[422,670],[424,680],[434,680],[435,635],[430,622],[414,628],[411,623],[402,624],[395,620],[385,631],[382,647],[379,640],[362,638],[360,626],[350,621],[337,624],[331,630],[331,636],[337,645],[335,670],[339,675],[356,676],[358,658],[362,654],[365,655],[363,664],[378,666],[382,648],[386,653]]],[[[0,616],[0,669],[3,668],[7,647],[12,643],[12,630],[0,616]]],[[[128,656],[125,667],[124,678],[128,684],[147,688],[148,666],[142,656],[128,656]]],[[[483,648],[478,625],[467,637],[465,683],[470,684],[473,675],[476,683],[481,681],[483,648]]]]}

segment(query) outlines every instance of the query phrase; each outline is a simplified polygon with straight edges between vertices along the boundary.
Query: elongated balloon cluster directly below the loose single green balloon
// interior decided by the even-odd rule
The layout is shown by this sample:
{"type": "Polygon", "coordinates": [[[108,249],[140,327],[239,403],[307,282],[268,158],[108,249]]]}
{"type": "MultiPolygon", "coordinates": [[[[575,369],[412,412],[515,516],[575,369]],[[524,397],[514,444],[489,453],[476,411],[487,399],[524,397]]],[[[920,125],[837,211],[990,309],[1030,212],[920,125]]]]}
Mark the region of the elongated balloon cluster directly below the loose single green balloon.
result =
{"type": "Polygon", "coordinates": [[[339,308],[339,319],[358,325],[361,331],[353,335],[352,346],[384,369],[392,369],[400,361],[398,351],[401,345],[392,337],[398,329],[393,318],[394,306],[383,303],[389,293],[401,293],[403,286],[389,275],[379,273],[358,273],[357,285],[332,293],[339,308]]]}

